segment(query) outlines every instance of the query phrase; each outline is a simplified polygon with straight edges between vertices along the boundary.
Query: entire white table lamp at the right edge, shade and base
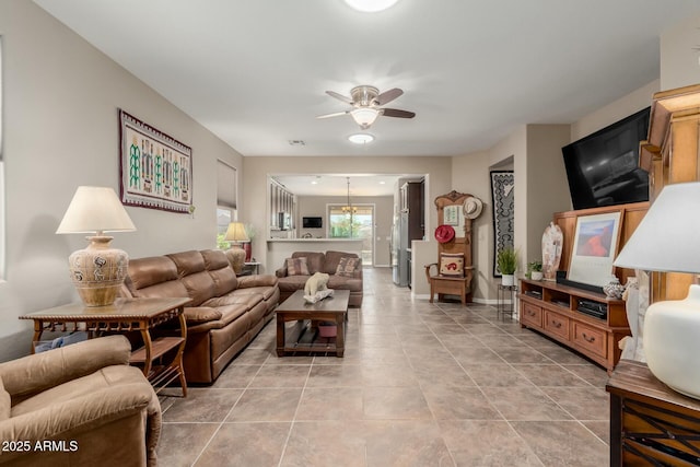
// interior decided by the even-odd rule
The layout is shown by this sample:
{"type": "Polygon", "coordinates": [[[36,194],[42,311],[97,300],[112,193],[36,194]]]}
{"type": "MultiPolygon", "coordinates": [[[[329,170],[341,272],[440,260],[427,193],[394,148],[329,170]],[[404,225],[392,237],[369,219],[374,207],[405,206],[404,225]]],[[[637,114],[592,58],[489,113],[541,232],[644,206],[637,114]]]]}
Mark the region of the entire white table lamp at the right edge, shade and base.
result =
{"type": "MultiPolygon", "coordinates": [[[[667,185],[614,265],[700,272],[700,183],[667,185]]],[[[685,300],[656,302],[644,315],[646,364],[672,389],[700,399],[700,285],[685,300]]]]}

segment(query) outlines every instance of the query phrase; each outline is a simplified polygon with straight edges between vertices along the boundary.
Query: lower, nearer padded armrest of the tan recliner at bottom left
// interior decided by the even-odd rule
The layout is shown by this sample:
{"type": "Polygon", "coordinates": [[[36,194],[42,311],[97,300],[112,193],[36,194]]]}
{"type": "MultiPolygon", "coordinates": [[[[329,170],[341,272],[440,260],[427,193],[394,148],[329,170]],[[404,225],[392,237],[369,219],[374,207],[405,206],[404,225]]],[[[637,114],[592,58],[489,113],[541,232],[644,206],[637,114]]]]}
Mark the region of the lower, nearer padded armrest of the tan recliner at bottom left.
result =
{"type": "MultiPolygon", "coordinates": [[[[32,446],[31,454],[36,442],[44,440],[69,442],[75,433],[93,431],[143,410],[148,413],[147,423],[150,432],[144,442],[151,456],[151,451],[154,452],[161,432],[161,409],[153,388],[145,381],[106,387],[84,397],[49,405],[2,420],[0,421],[0,440],[28,441],[32,446]]],[[[27,453],[0,453],[0,464],[25,454],[27,453]]]]}

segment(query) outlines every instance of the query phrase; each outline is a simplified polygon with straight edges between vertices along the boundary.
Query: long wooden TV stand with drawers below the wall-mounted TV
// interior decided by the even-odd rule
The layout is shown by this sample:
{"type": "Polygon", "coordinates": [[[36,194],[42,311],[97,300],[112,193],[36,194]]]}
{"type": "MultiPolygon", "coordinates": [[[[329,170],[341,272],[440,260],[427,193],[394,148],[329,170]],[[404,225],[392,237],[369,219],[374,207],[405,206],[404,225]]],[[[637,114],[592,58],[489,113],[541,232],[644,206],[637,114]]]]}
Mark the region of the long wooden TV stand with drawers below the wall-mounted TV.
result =
{"type": "Polygon", "coordinates": [[[521,279],[521,327],[538,330],[604,366],[608,373],[620,360],[618,342],[630,335],[625,302],[551,281],[521,279]],[[599,318],[578,311],[586,300],[607,307],[599,318]]]}

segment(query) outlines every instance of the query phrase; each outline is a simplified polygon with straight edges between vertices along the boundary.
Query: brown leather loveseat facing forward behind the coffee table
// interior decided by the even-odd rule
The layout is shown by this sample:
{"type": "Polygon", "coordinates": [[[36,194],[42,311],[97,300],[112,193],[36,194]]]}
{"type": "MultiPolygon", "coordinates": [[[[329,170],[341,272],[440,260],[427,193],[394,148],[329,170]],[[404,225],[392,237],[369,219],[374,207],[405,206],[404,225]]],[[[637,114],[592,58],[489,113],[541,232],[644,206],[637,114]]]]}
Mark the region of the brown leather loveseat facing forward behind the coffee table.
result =
{"type": "Polygon", "coordinates": [[[362,258],[354,253],[328,250],[294,252],[275,271],[280,288],[280,301],[287,300],[316,272],[329,275],[328,289],[349,290],[350,306],[362,305],[362,258]]]}

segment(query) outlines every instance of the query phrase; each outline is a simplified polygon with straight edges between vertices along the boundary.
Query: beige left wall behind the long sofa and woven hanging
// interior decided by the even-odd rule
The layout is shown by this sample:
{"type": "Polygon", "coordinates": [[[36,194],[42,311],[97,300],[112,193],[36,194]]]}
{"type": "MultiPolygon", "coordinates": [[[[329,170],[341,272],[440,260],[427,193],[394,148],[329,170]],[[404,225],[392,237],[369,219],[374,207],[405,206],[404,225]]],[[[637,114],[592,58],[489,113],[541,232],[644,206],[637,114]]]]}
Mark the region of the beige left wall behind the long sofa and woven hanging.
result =
{"type": "Polygon", "coordinates": [[[0,361],[30,350],[18,316],[77,301],[68,256],[82,235],[56,235],[79,185],[119,192],[117,109],[192,148],[191,218],[127,208],[138,231],[113,244],[131,257],[215,245],[217,159],[242,157],[69,28],[26,0],[0,2],[3,38],[7,282],[0,283],[0,361]]]}

